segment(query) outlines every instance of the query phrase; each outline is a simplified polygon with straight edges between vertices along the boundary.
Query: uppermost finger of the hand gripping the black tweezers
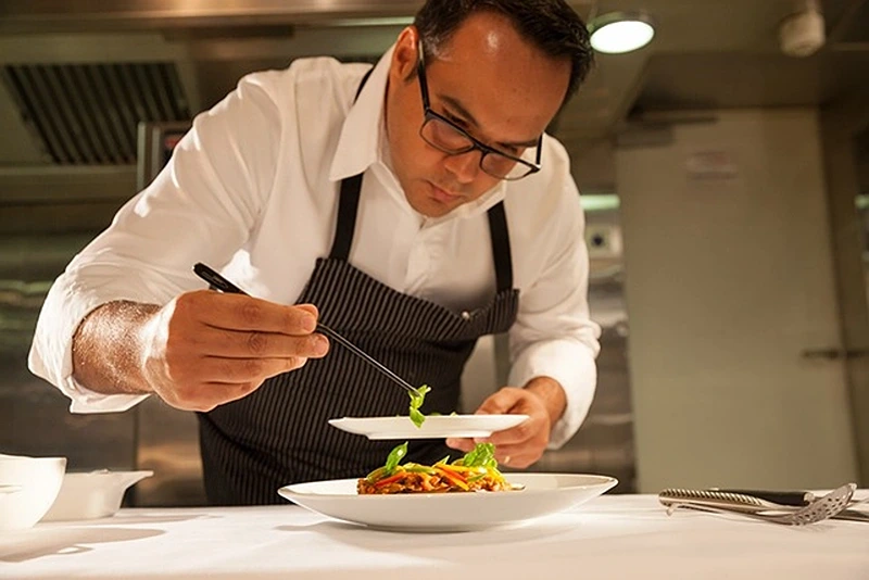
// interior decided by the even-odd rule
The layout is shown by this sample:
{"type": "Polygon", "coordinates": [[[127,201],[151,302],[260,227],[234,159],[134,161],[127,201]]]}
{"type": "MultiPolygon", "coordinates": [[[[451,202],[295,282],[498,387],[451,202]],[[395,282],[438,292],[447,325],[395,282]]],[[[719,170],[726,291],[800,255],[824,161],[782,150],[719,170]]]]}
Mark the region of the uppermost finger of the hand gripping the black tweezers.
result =
{"type": "Polygon", "coordinates": [[[193,318],[228,330],[310,335],[317,326],[316,307],[285,306],[243,294],[188,292],[175,307],[181,313],[190,308],[193,318]]]}

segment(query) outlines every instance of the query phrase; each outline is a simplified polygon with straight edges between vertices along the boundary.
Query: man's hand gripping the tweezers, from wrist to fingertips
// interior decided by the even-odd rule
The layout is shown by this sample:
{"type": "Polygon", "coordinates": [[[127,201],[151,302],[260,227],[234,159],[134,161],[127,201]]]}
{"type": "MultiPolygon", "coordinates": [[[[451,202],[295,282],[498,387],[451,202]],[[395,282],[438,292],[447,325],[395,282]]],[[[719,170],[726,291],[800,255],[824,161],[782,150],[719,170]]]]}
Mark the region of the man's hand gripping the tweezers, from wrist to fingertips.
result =
{"type": "Polygon", "coordinates": [[[317,310],[206,290],[181,294],[144,326],[143,376],[169,405],[211,411],[329,349],[317,310]]]}

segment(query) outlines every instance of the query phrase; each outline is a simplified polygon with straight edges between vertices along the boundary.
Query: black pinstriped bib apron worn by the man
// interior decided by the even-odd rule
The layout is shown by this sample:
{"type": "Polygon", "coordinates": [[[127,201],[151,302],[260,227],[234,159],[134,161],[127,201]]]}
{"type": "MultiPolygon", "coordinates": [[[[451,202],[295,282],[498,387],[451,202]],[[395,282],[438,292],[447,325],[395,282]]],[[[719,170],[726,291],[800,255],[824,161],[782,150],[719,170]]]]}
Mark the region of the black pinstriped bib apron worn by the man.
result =
{"type": "MultiPolygon", "coordinates": [[[[452,413],[477,339],[506,331],[516,319],[518,290],[513,289],[504,206],[489,210],[498,293],[484,307],[457,313],[398,292],[348,262],[361,188],[362,174],[341,182],[331,253],[317,260],[298,303],[316,304],[324,324],[412,384],[431,387],[424,413],[452,413]]],[[[369,441],[331,427],[328,419],[407,415],[410,402],[403,389],[332,342],[324,358],[198,414],[209,502],[279,504],[286,503],[277,494],[282,486],[362,477],[382,465],[399,442],[369,441]]],[[[459,452],[442,439],[412,440],[407,459],[433,463],[451,453],[459,452]]]]}

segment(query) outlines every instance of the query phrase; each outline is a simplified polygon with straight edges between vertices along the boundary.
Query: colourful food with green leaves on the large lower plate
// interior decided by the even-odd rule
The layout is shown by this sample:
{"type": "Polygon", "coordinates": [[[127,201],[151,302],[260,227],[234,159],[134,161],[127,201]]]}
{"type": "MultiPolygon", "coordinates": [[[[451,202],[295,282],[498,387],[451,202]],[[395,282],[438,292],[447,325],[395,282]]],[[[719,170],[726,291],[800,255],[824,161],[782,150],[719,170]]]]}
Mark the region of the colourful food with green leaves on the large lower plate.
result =
{"type": "Polygon", "coordinates": [[[390,452],[386,465],[357,481],[356,491],[361,495],[371,495],[521,489],[521,486],[511,486],[498,470],[492,443],[478,443],[453,463],[449,463],[448,456],[433,465],[400,464],[407,454],[407,442],[404,442],[390,452]]]}

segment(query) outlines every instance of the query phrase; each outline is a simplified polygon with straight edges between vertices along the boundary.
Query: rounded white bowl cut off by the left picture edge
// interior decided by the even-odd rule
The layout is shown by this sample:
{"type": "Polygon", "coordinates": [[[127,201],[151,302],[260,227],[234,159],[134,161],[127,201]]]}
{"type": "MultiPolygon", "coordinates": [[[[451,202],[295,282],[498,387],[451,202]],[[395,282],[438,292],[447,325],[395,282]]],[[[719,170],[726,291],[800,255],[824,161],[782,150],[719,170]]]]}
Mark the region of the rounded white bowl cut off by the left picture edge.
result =
{"type": "Polygon", "coordinates": [[[33,527],[54,503],[66,457],[0,455],[0,530],[33,527]]]}

